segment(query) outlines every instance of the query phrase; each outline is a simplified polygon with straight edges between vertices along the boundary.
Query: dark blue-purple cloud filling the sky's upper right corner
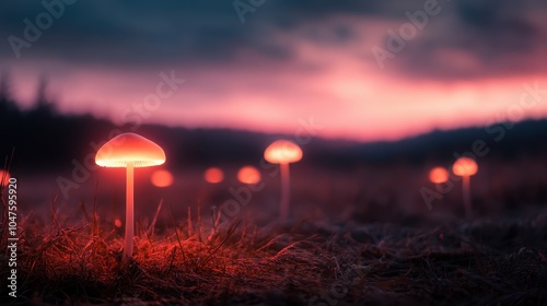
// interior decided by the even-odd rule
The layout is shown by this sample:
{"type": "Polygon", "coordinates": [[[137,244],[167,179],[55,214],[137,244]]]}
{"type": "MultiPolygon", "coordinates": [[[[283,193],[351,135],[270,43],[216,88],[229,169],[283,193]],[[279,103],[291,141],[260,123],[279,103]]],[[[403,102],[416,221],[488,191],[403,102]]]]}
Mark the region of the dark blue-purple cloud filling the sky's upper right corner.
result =
{"type": "Polygon", "coordinates": [[[428,79],[507,78],[547,69],[547,13],[539,1],[457,1],[397,59],[398,73],[428,79]]]}

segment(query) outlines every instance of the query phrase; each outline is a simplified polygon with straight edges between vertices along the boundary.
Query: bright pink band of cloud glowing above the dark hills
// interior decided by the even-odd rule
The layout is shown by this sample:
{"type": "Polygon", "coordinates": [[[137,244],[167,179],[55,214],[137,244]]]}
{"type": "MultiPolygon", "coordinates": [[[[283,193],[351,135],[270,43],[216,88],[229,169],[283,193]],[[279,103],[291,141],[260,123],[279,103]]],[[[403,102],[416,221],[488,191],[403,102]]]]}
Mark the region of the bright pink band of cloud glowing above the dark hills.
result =
{"type": "MultiPolygon", "coordinates": [[[[268,60],[241,49],[233,62],[199,67],[128,71],[42,63],[39,68],[62,71],[50,79],[63,111],[92,111],[121,123],[124,110],[155,91],[159,73],[174,70],[187,82],[143,118],[146,122],[293,133],[299,119],[313,117],[324,126],[319,136],[356,140],[400,139],[435,128],[486,125],[502,119],[519,104],[524,83],[537,81],[542,89],[547,87],[545,75],[473,81],[400,76],[362,57],[382,39],[385,27],[375,21],[349,23],[363,28],[361,37],[341,45],[305,39],[306,28],[278,33],[271,39],[292,46],[288,60],[268,60]]],[[[319,25],[328,27],[329,23],[322,21],[319,25]]],[[[440,50],[435,56],[455,59],[454,64],[463,67],[478,64],[453,50],[440,50]]],[[[32,99],[37,78],[33,71],[39,69],[26,63],[16,71],[16,92],[23,99],[32,99]]],[[[538,103],[525,109],[522,119],[544,118],[546,114],[547,104],[538,103]]]]}

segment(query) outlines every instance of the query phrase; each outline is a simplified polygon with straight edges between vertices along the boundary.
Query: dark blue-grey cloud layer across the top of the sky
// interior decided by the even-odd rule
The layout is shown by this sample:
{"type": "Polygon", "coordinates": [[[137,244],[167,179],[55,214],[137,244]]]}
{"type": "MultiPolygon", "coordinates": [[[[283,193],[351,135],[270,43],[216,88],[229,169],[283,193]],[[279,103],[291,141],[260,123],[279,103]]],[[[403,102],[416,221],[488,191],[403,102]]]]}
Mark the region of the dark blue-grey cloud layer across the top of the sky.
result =
{"type": "MultiPolygon", "coordinates": [[[[54,0],[50,0],[54,1],[54,0]]],[[[427,0],[433,1],[433,0],[427,0]]],[[[232,1],[75,1],[28,49],[23,60],[54,60],[73,66],[120,69],[218,66],[240,62],[242,54],[292,62],[298,44],[278,37],[310,24],[339,17],[361,19],[393,26],[408,22],[405,12],[423,7],[412,1],[266,0],[241,23],[232,1]]],[[[443,11],[389,67],[389,72],[426,79],[491,78],[540,73],[547,68],[544,1],[439,0],[443,11]]],[[[7,42],[23,36],[24,19],[45,11],[33,4],[0,4],[0,58],[16,64],[7,42]]],[[[375,28],[385,36],[388,27],[375,28]]],[[[301,39],[322,47],[339,47],[368,39],[371,31],[331,23],[328,31],[306,31],[301,39]]],[[[348,51],[347,56],[356,56],[348,51]]],[[[368,54],[368,61],[374,61],[368,54]]]]}

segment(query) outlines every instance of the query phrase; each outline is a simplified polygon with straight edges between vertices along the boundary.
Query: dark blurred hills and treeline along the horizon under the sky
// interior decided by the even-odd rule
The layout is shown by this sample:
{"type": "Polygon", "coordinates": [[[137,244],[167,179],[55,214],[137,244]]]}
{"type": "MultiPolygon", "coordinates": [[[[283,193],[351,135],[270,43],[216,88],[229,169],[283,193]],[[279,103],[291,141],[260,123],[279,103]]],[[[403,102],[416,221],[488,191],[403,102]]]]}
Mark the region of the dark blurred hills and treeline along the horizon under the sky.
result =
{"type": "MultiPolygon", "coordinates": [[[[453,162],[458,154],[474,151],[477,142],[485,144],[488,158],[515,160],[523,154],[542,155],[547,152],[540,139],[547,138],[547,120],[525,120],[522,122],[499,122],[487,127],[468,127],[454,130],[433,130],[395,141],[354,141],[325,139],[314,130],[301,126],[293,134],[264,133],[237,129],[182,128],[162,125],[133,122],[125,127],[116,126],[107,118],[92,114],[61,114],[56,102],[44,96],[40,89],[32,108],[21,109],[1,91],[1,119],[7,127],[18,133],[4,136],[1,153],[8,156],[15,148],[15,162],[21,157],[22,166],[44,168],[66,167],[72,158],[81,158],[95,150],[90,143],[107,141],[113,131],[141,131],[164,142],[173,154],[185,156],[187,163],[206,166],[214,163],[243,163],[258,161],[266,145],[275,139],[284,138],[305,144],[306,161],[310,165],[326,167],[351,167],[359,164],[388,165],[405,160],[411,165],[428,165],[453,162]],[[177,139],[176,144],[171,139],[177,139]],[[48,142],[55,145],[48,145],[48,142]],[[171,143],[171,144],[170,144],[171,143]],[[34,155],[35,146],[42,146],[44,155],[34,155]],[[222,155],[218,155],[219,149],[222,155]],[[214,154],[213,154],[214,153],[214,154]]],[[[174,164],[173,166],[179,166],[174,164]]]]}

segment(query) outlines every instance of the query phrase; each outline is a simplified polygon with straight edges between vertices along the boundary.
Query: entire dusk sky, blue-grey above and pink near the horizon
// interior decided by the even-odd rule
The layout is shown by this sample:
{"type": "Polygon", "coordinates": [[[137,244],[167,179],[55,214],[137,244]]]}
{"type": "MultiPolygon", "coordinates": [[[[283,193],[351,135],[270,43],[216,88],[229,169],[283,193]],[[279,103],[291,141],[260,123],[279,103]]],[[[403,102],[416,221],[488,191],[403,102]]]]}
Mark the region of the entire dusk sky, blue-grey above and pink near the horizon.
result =
{"type": "Polygon", "coordinates": [[[44,78],[60,111],[117,123],[375,141],[547,117],[546,1],[33,3],[0,3],[23,107],[44,78]]]}

